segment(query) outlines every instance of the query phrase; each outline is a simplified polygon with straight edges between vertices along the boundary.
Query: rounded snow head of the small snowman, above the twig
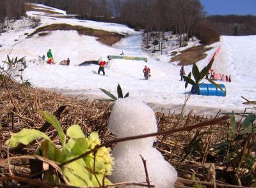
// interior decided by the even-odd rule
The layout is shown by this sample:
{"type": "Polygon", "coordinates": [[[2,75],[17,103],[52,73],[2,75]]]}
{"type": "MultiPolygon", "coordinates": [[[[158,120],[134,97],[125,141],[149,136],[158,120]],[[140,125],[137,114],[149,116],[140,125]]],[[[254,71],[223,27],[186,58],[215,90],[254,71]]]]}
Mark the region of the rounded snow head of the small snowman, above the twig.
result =
{"type": "Polygon", "coordinates": [[[109,129],[118,138],[156,133],[155,113],[143,101],[118,99],[109,117],[109,129]]]}

